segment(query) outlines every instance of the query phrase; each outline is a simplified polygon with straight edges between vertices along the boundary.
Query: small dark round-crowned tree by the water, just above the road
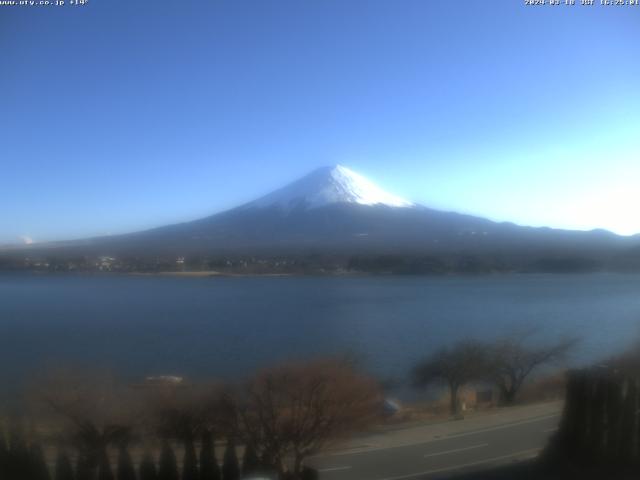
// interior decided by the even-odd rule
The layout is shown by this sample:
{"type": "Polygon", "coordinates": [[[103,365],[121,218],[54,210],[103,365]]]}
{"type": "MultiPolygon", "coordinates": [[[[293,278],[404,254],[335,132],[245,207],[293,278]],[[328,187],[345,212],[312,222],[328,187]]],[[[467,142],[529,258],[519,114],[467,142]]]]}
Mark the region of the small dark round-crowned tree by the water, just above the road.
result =
{"type": "Polygon", "coordinates": [[[413,370],[416,387],[444,383],[449,388],[449,410],[459,411],[458,395],[465,384],[482,380],[487,375],[487,347],[475,340],[466,340],[453,347],[442,348],[419,362],[413,370]]]}

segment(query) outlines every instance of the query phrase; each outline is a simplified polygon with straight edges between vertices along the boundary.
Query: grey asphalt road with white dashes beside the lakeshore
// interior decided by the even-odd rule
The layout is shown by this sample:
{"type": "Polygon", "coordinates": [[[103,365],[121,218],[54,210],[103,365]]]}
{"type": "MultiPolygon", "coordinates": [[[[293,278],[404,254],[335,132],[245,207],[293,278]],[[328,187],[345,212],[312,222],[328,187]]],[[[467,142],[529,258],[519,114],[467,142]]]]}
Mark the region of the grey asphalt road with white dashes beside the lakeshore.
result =
{"type": "Polygon", "coordinates": [[[335,452],[310,463],[322,480],[417,480],[535,457],[557,428],[559,406],[516,413],[409,428],[404,435],[394,432],[388,442],[378,435],[379,446],[335,452]]]}

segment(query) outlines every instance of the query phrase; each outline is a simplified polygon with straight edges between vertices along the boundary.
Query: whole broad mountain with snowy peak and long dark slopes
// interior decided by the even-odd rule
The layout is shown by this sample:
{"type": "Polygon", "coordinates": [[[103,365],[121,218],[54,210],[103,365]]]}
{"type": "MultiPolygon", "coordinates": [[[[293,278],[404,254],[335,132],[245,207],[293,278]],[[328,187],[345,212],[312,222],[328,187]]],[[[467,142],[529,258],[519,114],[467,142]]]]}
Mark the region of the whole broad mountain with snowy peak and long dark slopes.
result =
{"type": "MultiPolygon", "coordinates": [[[[401,255],[448,258],[454,263],[458,260],[451,259],[475,256],[489,259],[491,265],[521,266],[567,258],[608,264],[621,252],[638,250],[638,245],[637,238],[604,230],[523,227],[434,210],[388,193],[337,165],[314,170],[254,201],[200,220],[126,235],[36,244],[25,250],[173,259],[401,255]]],[[[637,263],[640,268],[640,260],[637,263]]]]}

